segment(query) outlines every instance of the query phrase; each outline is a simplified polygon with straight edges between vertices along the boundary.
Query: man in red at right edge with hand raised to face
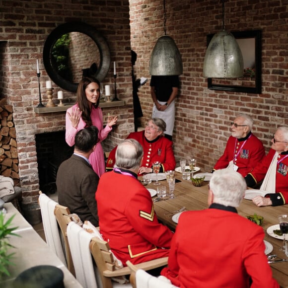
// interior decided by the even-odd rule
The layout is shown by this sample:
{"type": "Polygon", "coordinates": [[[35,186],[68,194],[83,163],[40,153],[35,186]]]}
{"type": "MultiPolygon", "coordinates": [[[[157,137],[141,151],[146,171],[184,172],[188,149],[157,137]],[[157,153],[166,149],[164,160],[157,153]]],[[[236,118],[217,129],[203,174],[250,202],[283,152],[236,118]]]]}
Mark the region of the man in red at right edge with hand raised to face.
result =
{"type": "Polygon", "coordinates": [[[261,182],[265,197],[252,199],[257,206],[278,206],[288,203],[288,127],[279,127],[271,140],[267,156],[246,177],[247,186],[261,182]]]}

